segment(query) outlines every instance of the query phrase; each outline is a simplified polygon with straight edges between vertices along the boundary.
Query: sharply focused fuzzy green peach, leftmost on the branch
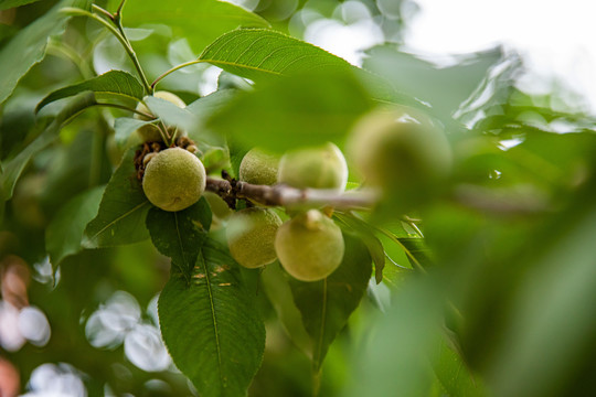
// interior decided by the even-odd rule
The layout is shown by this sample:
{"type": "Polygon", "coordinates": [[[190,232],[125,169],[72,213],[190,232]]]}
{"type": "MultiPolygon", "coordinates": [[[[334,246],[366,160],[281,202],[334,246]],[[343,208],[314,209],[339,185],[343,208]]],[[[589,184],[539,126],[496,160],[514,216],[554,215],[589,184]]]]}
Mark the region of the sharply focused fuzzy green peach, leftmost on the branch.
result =
{"type": "Polygon", "coordinates": [[[142,190],[155,206],[181,211],[196,203],[205,191],[206,174],[196,155],[182,148],[150,153],[142,190]]]}

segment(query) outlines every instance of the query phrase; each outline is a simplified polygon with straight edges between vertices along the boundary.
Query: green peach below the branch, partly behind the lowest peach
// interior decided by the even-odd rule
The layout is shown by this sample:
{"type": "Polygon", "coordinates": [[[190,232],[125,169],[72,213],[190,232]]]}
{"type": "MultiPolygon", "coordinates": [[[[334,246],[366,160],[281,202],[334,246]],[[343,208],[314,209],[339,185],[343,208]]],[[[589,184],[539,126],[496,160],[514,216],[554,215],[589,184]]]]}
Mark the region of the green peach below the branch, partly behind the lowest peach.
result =
{"type": "Polygon", "coordinates": [[[225,230],[232,257],[249,269],[273,262],[279,225],[281,219],[269,208],[251,207],[232,214],[225,230]]]}

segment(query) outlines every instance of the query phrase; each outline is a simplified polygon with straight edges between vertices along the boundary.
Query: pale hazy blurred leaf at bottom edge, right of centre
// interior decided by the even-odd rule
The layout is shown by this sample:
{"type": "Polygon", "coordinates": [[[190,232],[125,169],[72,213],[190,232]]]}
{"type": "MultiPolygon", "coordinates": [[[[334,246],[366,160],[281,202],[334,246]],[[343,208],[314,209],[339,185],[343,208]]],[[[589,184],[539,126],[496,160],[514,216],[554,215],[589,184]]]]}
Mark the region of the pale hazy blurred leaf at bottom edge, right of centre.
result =
{"type": "Polygon", "coordinates": [[[369,324],[372,337],[353,351],[344,396],[432,396],[429,355],[441,337],[441,286],[429,277],[408,281],[369,324]]]}

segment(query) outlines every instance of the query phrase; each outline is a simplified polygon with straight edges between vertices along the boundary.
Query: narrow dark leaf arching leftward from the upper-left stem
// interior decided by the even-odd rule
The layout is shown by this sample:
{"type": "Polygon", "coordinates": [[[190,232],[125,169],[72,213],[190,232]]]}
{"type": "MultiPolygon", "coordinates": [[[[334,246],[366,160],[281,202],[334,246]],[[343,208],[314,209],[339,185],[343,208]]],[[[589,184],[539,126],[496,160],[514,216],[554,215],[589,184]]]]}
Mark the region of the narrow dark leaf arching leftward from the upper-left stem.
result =
{"type": "Polygon", "coordinates": [[[89,78],[88,81],[56,89],[38,104],[35,112],[40,111],[45,105],[51,104],[54,100],[66,98],[83,92],[114,94],[138,100],[141,100],[145,96],[145,89],[135,76],[128,72],[109,71],[100,76],[89,78]]]}

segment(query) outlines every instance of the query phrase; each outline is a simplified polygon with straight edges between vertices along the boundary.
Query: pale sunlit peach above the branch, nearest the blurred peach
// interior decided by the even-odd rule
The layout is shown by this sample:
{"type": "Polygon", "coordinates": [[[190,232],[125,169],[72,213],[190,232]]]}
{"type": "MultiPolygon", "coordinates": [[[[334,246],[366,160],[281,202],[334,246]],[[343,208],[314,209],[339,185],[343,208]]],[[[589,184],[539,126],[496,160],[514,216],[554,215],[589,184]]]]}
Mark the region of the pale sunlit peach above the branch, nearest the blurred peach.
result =
{"type": "Polygon", "coordinates": [[[328,142],[285,153],[279,162],[278,181],[298,189],[343,192],[348,182],[348,165],[341,150],[328,142]]]}

